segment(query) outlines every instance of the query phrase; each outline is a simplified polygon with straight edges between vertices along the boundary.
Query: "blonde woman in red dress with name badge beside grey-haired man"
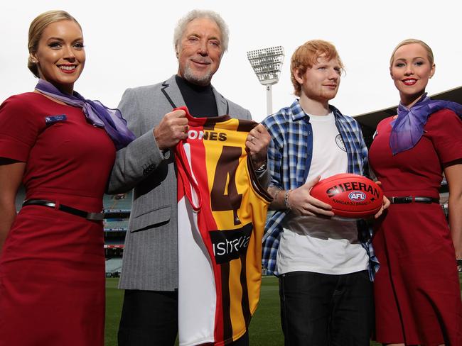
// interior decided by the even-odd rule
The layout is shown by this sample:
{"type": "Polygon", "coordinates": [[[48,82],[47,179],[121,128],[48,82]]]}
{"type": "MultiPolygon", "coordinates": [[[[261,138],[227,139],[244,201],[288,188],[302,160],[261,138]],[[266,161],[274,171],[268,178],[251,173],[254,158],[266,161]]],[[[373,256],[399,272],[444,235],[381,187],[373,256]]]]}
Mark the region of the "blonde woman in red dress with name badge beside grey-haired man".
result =
{"type": "Polygon", "coordinates": [[[35,90],[0,106],[0,345],[102,346],[102,196],[134,135],[74,91],[85,49],[69,13],[35,18],[28,50],[35,90]]]}

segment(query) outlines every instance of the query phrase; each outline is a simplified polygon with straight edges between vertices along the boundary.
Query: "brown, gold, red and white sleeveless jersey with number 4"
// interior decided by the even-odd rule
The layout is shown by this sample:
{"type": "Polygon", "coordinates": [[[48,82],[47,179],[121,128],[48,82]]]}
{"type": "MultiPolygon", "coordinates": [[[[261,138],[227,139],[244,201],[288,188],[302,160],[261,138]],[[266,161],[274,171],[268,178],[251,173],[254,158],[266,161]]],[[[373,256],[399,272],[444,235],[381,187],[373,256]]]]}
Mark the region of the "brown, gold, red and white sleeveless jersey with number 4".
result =
{"type": "Polygon", "coordinates": [[[230,116],[188,118],[176,146],[178,334],[181,346],[227,345],[257,308],[262,236],[271,196],[245,148],[257,123],[230,116]]]}

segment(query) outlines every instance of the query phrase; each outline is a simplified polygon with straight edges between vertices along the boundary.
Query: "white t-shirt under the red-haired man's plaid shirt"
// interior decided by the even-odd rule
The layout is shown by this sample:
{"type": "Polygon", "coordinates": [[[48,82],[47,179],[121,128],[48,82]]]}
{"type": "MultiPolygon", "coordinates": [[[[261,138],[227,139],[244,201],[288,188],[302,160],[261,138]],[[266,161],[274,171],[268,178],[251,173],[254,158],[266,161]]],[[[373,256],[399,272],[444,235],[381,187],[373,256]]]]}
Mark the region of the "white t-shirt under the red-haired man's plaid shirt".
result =
{"type": "MultiPolygon", "coordinates": [[[[313,156],[307,181],[348,170],[345,145],[335,126],[333,113],[310,116],[313,156]]],[[[326,220],[289,213],[282,223],[277,271],[348,274],[367,269],[369,258],[358,240],[356,221],[326,220]]]]}

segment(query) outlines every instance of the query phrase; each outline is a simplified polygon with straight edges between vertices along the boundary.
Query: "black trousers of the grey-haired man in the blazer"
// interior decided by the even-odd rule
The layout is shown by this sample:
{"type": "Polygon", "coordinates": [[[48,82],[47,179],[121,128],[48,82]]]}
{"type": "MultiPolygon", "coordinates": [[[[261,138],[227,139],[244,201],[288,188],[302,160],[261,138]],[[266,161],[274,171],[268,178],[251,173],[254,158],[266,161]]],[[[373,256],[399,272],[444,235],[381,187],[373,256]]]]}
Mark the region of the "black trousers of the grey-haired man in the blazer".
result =
{"type": "MultiPolygon", "coordinates": [[[[173,346],[177,334],[178,291],[125,290],[119,346],[173,346]]],[[[229,345],[249,345],[248,333],[229,345]]]]}

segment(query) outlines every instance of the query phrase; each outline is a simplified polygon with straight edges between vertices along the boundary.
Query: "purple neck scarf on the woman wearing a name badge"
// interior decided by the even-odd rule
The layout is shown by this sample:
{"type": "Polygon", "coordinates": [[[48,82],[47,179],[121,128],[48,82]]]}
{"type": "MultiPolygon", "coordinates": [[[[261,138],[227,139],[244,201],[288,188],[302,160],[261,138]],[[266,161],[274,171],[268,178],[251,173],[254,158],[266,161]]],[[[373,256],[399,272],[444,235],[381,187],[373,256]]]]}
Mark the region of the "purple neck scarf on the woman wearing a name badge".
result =
{"type": "Polygon", "coordinates": [[[104,106],[100,101],[90,101],[74,91],[72,95],[63,94],[50,82],[38,79],[36,90],[42,94],[53,97],[65,104],[82,108],[87,120],[99,128],[104,128],[107,135],[112,139],[117,150],[126,147],[135,135],[127,128],[127,121],[122,118],[118,109],[110,109],[104,106]]]}

